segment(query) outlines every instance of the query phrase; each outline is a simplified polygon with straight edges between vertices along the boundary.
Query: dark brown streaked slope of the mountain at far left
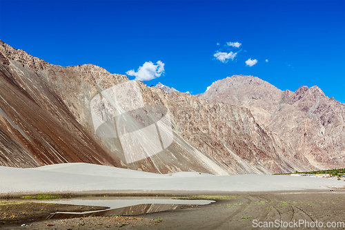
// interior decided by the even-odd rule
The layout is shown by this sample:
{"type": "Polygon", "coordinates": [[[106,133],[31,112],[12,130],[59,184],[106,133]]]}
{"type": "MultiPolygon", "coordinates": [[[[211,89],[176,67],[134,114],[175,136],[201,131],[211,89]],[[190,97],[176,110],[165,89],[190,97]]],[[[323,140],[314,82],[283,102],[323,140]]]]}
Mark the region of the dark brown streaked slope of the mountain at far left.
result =
{"type": "Polygon", "coordinates": [[[2,148],[1,165],[89,162],[120,166],[75,120],[56,88],[50,88],[44,74],[52,65],[6,44],[1,44],[0,52],[9,62],[0,65],[2,143],[17,146],[16,151],[2,148]]]}

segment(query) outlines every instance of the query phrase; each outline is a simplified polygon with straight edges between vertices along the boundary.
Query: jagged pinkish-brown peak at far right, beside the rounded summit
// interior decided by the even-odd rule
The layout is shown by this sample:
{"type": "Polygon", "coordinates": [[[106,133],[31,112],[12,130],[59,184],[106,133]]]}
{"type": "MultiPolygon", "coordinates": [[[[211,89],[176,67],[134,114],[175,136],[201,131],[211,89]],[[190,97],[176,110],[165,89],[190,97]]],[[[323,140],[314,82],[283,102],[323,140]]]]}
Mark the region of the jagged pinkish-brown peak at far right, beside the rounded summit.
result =
{"type": "Polygon", "coordinates": [[[345,105],[317,86],[302,86],[286,102],[268,127],[317,168],[344,168],[345,105]]]}

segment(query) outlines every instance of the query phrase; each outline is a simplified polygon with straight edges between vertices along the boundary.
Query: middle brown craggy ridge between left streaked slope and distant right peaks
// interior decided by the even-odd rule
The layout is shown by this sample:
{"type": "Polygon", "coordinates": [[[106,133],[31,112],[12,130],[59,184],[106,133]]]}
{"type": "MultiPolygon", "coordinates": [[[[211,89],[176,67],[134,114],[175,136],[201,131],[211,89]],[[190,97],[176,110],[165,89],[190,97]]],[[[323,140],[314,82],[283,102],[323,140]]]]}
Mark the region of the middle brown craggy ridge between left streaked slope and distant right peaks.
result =
{"type": "Polygon", "coordinates": [[[305,157],[259,126],[247,108],[208,104],[186,93],[152,92],[145,86],[143,90],[152,104],[158,99],[168,104],[173,126],[181,137],[232,174],[313,169],[305,157]]]}

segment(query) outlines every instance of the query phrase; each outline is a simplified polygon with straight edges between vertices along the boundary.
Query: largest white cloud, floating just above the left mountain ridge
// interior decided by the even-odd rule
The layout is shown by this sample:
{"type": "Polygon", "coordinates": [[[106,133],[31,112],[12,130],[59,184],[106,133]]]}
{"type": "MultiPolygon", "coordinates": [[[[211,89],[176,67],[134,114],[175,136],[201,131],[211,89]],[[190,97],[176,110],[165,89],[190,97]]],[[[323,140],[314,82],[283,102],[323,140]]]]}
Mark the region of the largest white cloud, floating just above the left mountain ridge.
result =
{"type": "Polygon", "coordinates": [[[128,70],[127,75],[135,76],[137,81],[150,81],[156,77],[161,77],[164,73],[164,63],[157,61],[157,65],[153,64],[151,61],[146,61],[143,66],[140,66],[135,72],[135,70],[128,70]]]}

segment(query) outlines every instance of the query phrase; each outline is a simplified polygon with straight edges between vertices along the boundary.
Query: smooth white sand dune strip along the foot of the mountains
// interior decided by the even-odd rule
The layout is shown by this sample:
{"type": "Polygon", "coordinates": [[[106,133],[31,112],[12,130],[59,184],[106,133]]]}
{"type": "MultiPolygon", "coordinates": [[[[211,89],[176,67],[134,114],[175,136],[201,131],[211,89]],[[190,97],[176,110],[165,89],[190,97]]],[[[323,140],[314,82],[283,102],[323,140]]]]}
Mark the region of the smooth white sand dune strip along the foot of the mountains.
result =
{"type": "Polygon", "coordinates": [[[34,169],[0,166],[0,195],[81,191],[288,191],[345,186],[344,181],[287,175],[161,175],[86,163],[34,169]]]}

